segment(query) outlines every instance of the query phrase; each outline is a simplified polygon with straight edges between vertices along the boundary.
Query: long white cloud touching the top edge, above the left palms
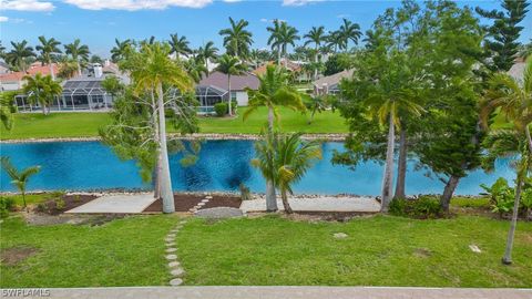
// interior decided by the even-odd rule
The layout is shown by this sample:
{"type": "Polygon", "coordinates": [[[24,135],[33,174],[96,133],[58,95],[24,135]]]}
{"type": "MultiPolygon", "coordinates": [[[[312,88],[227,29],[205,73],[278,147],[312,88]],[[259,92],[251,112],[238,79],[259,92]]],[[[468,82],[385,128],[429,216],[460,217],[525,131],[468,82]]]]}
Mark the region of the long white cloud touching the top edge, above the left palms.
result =
{"type": "Polygon", "coordinates": [[[203,8],[213,0],[64,0],[65,3],[88,10],[162,10],[168,7],[203,8]]]}

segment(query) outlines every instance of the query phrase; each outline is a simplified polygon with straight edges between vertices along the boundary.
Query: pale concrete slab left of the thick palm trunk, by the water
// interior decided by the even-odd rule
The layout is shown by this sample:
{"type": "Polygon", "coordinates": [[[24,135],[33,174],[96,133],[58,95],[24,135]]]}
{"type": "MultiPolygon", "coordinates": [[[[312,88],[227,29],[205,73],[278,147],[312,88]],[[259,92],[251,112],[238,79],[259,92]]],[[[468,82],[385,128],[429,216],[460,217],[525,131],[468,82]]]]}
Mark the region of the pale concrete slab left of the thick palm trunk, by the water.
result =
{"type": "Polygon", "coordinates": [[[155,198],[153,194],[121,194],[105,195],[82,206],[66,210],[76,214],[140,214],[150,206],[155,198]]]}

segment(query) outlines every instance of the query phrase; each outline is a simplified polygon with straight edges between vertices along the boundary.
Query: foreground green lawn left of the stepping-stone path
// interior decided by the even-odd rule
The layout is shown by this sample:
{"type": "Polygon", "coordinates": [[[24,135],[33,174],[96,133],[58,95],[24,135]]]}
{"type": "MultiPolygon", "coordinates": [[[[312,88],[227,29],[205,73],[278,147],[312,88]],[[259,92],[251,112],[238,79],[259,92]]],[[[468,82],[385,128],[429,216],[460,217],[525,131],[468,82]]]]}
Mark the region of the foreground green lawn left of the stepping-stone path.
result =
{"type": "MultiPolygon", "coordinates": [[[[37,248],[8,266],[0,287],[104,287],[167,285],[164,236],[175,216],[129,217],[102,226],[28,226],[20,218],[0,224],[0,248],[37,248]]],[[[3,256],[2,256],[3,258],[3,256]]]]}

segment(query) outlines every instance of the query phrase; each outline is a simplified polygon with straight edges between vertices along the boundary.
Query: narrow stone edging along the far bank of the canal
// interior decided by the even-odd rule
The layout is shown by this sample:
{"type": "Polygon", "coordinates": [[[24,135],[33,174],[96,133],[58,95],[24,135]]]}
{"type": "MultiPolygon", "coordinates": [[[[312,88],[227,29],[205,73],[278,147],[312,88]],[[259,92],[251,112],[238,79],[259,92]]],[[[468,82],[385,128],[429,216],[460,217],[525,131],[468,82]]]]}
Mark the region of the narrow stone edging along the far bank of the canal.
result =
{"type": "MultiPolygon", "coordinates": [[[[304,140],[321,140],[330,142],[341,142],[348,134],[304,134],[304,140]]],[[[191,135],[168,134],[171,138],[178,140],[213,140],[213,141],[256,141],[260,138],[258,134],[214,134],[214,133],[196,133],[191,135]]],[[[2,140],[0,144],[10,143],[44,143],[44,142],[92,142],[101,141],[99,136],[93,137],[53,137],[53,138],[27,138],[27,140],[2,140]]]]}

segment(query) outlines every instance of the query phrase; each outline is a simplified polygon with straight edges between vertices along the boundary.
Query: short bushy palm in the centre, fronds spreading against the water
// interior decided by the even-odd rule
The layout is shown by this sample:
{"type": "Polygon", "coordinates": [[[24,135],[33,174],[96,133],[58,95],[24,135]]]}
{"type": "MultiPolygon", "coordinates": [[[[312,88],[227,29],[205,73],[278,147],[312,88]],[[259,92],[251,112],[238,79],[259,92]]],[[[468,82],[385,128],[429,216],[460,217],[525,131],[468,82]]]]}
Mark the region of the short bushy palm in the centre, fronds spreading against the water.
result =
{"type": "Polygon", "coordinates": [[[252,159],[252,165],[260,169],[267,181],[276,182],[283,206],[288,214],[293,213],[288,203],[293,184],[303,178],[314,161],[321,158],[319,142],[303,142],[300,137],[301,133],[280,136],[266,134],[263,141],[255,144],[257,157],[252,159]]]}

